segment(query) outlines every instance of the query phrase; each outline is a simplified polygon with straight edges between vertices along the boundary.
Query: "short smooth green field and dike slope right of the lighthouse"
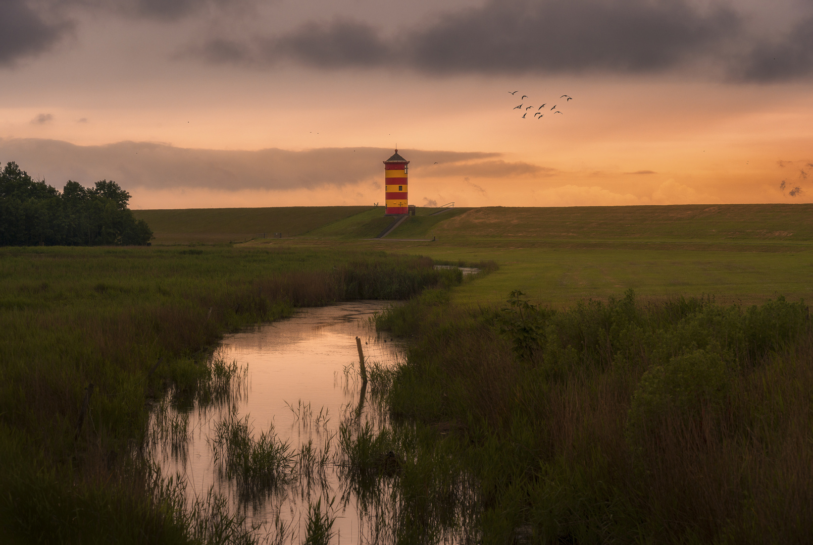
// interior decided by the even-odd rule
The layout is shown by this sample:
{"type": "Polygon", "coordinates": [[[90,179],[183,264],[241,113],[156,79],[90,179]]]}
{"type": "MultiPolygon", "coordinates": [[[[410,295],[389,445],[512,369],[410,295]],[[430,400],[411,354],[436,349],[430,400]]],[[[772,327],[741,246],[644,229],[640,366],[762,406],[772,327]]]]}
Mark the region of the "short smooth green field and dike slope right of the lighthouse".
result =
{"type": "Polygon", "coordinates": [[[249,244],[333,245],[419,253],[445,262],[493,260],[500,270],[454,291],[498,303],[513,289],[561,306],[618,295],[714,295],[758,303],[813,297],[813,205],[676,205],[418,209],[385,239],[380,210],[305,236],[249,244]],[[437,240],[432,241],[432,237],[437,240]]]}

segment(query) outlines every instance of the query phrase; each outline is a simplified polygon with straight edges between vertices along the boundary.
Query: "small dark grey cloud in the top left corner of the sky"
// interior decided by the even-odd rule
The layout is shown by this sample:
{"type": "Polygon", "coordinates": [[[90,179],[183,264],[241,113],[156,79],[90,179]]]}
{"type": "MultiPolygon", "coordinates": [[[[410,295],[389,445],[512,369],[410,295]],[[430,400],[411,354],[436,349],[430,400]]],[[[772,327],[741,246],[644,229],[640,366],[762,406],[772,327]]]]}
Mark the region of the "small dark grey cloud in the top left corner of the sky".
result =
{"type": "Polygon", "coordinates": [[[24,0],[0,0],[0,67],[49,50],[71,28],[51,20],[24,0]]]}

